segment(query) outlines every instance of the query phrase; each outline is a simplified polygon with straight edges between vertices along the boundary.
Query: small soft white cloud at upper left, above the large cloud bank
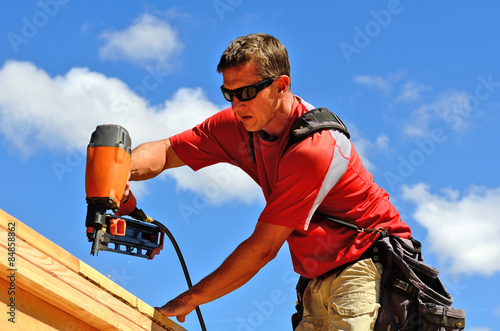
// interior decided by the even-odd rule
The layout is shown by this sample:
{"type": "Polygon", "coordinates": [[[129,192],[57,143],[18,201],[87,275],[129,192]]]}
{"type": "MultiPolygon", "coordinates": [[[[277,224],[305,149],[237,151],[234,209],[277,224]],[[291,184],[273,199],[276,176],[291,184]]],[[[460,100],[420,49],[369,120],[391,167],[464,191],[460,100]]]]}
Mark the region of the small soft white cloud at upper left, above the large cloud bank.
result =
{"type": "Polygon", "coordinates": [[[168,66],[172,56],[182,50],[177,31],[168,22],[148,13],[121,31],[101,35],[105,44],[99,49],[103,59],[125,59],[141,64],[168,66]]]}

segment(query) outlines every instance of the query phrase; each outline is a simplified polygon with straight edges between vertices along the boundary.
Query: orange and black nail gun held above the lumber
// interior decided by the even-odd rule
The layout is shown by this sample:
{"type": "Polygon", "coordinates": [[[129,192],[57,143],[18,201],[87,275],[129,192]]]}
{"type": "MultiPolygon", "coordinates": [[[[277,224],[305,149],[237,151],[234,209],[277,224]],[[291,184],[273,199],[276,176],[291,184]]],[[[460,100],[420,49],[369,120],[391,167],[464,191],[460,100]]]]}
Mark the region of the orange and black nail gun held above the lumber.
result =
{"type": "Polygon", "coordinates": [[[131,165],[128,131],[119,125],[99,125],[87,147],[85,191],[87,238],[90,254],[100,250],[152,259],[163,248],[164,232],[136,207],[130,193],[124,197],[131,165]],[[122,200],[127,201],[122,204],[122,200]],[[115,215],[106,214],[113,210],[115,215]],[[130,215],[137,220],[119,217],[130,215]],[[144,223],[147,222],[147,223],[144,223]]]}

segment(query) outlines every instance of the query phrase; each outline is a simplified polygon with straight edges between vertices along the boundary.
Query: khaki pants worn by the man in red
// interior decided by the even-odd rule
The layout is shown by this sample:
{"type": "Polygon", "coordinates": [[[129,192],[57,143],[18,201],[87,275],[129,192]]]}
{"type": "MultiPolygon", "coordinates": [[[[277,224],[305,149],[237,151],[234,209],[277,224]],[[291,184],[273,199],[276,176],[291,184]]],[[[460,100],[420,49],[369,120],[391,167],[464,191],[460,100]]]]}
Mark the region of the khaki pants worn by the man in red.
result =
{"type": "Polygon", "coordinates": [[[365,259],[312,279],[304,292],[304,317],[296,331],[373,330],[381,275],[382,264],[365,259]]]}

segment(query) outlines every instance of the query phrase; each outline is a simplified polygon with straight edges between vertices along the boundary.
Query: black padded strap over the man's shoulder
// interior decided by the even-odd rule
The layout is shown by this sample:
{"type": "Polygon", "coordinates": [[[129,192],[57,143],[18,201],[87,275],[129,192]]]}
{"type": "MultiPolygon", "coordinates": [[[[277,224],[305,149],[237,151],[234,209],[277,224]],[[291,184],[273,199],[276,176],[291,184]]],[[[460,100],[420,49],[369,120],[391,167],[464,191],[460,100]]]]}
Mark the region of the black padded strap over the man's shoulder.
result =
{"type": "Polygon", "coordinates": [[[323,107],[315,108],[300,116],[292,125],[285,151],[314,132],[325,129],[337,130],[347,138],[351,137],[347,127],[337,115],[323,107]]]}

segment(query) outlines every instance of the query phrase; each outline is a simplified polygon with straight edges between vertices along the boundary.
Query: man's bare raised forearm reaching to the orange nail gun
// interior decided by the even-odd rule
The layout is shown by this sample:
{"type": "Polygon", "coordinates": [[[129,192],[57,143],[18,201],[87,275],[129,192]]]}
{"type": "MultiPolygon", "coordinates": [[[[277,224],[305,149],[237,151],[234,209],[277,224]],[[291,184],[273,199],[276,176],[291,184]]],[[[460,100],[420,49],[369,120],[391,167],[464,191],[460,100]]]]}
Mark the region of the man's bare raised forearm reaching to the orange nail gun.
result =
{"type": "Polygon", "coordinates": [[[175,153],[170,139],[144,143],[132,151],[130,180],[150,179],[165,169],[182,165],[185,163],[175,153]]]}

